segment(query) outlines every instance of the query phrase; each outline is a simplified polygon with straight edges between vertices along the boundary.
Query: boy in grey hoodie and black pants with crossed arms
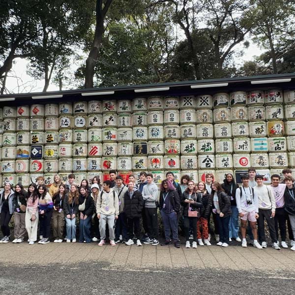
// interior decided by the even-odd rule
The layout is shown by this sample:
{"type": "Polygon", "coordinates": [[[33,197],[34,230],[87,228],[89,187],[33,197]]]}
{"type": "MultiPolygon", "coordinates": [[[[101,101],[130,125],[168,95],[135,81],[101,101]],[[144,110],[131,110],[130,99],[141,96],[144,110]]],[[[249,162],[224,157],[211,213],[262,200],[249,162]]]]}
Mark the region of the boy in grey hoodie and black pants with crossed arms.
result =
{"type": "Polygon", "coordinates": [[[148,239],[144,241],[145,244],[158,245],[158,214],[156,201],[158,200],[158,187],[153,182],[151,173],[147,174],[147,184],[143,189],[143,199],[145,201],[145,214],[148,226],[148,239]]]}

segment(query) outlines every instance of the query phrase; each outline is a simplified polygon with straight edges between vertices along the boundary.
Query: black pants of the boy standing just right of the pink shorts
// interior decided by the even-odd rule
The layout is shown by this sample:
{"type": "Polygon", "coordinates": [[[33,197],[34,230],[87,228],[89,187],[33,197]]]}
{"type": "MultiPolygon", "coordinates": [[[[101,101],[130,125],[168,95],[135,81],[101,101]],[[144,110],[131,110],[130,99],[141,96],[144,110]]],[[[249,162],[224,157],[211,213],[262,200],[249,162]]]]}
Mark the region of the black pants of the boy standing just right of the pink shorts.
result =
{"type": "Polygon", "coordinates": [[[259,242],[265,242],[266,241],[266,235],[265,235],[265,219],[266,223],[269,229],[269,234],[271,238],[272,243],[277,242],[277,235],[275,232],[275,227],[274,227],[274,218],[271,217],[271,209],[259,209],[259,218],[258,218],[258,239],[259,242]]]}

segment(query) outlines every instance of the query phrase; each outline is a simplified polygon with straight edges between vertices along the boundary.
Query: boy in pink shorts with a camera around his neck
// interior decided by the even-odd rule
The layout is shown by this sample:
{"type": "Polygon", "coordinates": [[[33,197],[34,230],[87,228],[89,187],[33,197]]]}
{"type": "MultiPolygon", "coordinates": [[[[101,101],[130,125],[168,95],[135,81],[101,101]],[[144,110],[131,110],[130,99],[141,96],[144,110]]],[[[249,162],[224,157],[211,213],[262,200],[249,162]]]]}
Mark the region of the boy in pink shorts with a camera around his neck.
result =
{"type": "Polygon", "coordinates": [[[253,246],[262,249],[257,241],[256,219],[259,218],[257,193],[254,192],[253,187],[249,186],[248,174],[242,175],[241,180],[242,186],[236,189],[236,207],[241,220],[242,247],[247,247],[246,227],[248,220],[254,236],[253,246]]]}

